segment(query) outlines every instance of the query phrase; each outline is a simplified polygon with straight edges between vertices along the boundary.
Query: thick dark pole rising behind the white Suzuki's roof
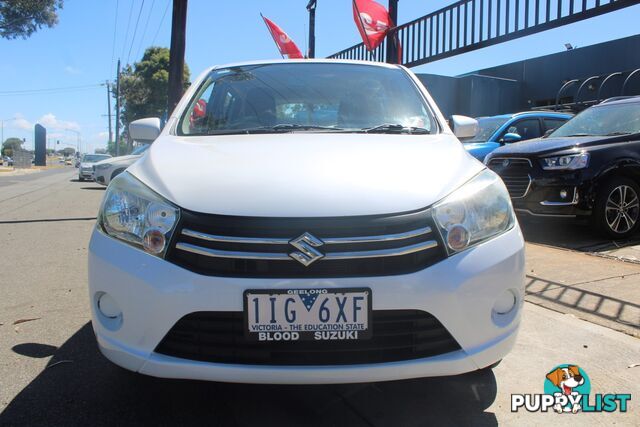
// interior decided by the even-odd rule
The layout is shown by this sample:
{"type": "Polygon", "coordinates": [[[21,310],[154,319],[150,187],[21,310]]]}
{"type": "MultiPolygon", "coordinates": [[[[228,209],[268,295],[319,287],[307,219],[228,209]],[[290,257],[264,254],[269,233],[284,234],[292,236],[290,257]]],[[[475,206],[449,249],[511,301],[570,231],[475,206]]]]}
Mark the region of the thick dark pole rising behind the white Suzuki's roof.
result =
{"type": "Polygon", "coordinates": [[[187,29],[187,0],[173,0],[171,50],[169,51],[169,93],[167,115],[171,116],[184,87],[184,45],[187,29]]]}

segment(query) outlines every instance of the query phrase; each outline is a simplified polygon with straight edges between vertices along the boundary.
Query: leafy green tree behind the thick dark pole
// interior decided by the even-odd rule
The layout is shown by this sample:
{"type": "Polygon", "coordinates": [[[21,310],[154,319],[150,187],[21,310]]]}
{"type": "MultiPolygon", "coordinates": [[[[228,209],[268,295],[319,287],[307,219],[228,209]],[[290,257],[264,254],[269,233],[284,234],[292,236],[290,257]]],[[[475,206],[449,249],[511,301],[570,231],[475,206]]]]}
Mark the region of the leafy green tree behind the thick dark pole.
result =
{"type": "MultiPolygon", "coordinates": [[[[184,66],[184,89],[189,87],[189,67],[184,66]]],[[[169,49],[150,47],[142,60],[125,67],[120,75],[121,122],[126,127],[144,117],[163,117],[169,90],[169,49]]]]}

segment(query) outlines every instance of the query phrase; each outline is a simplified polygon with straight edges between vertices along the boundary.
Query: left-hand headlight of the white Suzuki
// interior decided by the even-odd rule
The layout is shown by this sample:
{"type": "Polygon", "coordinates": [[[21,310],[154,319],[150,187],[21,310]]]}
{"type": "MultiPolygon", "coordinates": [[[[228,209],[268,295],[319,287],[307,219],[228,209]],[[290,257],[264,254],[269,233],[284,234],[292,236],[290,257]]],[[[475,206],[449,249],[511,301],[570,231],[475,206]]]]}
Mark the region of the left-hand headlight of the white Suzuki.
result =
{"type": "Polygon", "coordinates": [[[98,224],[110,236],[163,256],[179,217],[177,207],[125,172],[107,188],[98,224]]]}

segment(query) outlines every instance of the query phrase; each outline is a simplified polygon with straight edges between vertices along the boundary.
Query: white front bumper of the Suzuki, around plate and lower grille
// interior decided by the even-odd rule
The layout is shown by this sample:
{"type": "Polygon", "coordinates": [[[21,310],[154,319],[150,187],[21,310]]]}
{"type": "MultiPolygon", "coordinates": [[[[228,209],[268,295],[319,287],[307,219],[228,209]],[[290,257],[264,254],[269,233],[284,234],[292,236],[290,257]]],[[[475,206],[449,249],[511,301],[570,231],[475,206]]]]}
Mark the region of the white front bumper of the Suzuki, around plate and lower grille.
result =
{"type": "Polygon", "coordinates": [[[487,367],[513,347],[524,298],[524,242],[518,226],[412,274],[386,277],[255,279],[202,276],[94,230],[89,248],[93,328],[102,353],[142,374],[224,382],[356,383],[456,375],[487,367]],[[461,350],[388,363],[265,366],[209,363],[154,352],[172,326],[198,311],[242,311],[246,289],[369,287],[374,310],[412,309],[434,315],[461,350]],[[515,307],[500,315],[498,297],[510,290],[515,307]],[[122,315],[97,308],[108,293],[122,315]]]}

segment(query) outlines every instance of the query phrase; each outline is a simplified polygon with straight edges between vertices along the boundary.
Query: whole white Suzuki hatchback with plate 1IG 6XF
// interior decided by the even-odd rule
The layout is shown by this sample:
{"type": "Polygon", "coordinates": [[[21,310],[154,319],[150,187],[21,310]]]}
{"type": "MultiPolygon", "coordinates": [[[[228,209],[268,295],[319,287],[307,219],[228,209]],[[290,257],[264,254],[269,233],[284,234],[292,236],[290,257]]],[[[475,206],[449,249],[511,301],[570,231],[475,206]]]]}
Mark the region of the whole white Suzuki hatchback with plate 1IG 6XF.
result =
{"type": "Polygon", "coordinates": [[[516,339],[524,242],[502,181],[455,136],[477,123],[451,123],[401,66],[207,70],[162,131],[130,126],[155,142],[111,182],[91,238],[100,350],[249,383],[491,367],[516,339]]]}

